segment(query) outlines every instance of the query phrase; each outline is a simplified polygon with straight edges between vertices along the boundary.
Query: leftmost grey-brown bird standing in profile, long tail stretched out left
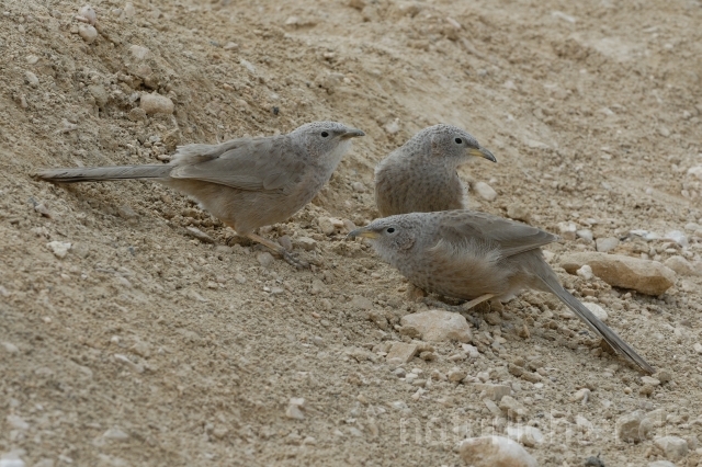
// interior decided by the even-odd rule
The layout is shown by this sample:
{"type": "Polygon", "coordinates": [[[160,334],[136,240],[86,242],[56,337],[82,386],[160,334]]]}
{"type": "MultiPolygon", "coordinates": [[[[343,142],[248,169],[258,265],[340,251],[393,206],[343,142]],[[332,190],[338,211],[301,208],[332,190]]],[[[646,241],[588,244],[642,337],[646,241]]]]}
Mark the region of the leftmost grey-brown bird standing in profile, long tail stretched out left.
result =
{"type": "Polygon", "coordinates": [[[314,122],[286,135],[181,146],[168,164],[46,169],[34,175],[54,183],[154,180],[190,195],[237,234],[301,266],[253,230],[288,219],[312,201],[358,136],[364,133],[314,122]]]}

